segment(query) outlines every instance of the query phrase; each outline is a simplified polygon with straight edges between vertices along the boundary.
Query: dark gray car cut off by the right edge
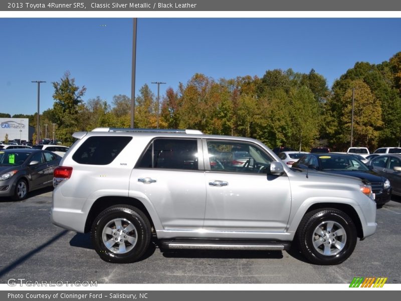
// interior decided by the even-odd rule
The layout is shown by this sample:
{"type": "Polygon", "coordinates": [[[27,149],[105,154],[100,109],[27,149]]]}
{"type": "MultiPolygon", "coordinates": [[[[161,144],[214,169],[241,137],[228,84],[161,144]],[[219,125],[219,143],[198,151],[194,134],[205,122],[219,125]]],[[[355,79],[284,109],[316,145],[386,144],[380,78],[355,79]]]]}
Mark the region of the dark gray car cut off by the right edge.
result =
{"type": "Polygon", "coordinates": [[[380,155],[370,160],[367,165],[390,181],[394,195],[401,196],[401,155],[380,155]]]}

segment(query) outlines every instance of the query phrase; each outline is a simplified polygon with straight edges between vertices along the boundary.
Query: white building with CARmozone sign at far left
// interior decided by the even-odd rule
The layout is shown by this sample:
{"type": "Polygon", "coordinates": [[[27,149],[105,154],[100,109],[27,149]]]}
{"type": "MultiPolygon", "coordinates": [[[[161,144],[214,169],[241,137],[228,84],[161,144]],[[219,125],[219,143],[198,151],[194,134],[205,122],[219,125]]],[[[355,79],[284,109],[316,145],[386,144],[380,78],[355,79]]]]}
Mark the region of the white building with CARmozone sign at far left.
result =
{"type": "Polygon", "coordinates": [[[29,125],[28,118],[0,118],[0,141],[9,140],[32,140],[35,127],[29,125]]]}

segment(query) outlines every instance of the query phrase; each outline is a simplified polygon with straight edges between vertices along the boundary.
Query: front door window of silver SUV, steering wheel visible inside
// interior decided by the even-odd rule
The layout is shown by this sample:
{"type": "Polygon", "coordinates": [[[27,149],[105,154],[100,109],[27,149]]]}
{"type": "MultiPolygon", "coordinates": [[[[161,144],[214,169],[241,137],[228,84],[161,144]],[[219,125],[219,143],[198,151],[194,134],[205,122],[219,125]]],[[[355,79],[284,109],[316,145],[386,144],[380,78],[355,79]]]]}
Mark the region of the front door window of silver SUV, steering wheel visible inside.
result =
{"type": "Polygon", "coordinates": [[[265,173],[272,159],[258,146],[236,141],[208,140],[212,171],[231,173],[265,173]]]}

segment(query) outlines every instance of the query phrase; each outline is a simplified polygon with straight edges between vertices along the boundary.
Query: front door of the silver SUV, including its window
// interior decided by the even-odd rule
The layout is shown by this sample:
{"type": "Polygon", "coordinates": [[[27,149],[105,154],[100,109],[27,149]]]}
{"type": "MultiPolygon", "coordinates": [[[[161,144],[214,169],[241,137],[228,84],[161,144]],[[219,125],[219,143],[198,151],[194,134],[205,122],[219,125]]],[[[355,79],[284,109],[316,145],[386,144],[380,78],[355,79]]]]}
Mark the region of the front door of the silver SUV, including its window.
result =
{"type": "Polygon", "coordinates": [[[217,231],[283,232],[291,210],[286,175],[267,175],[273,161],[256,144],[207,140],[204,228],[217,231]]]}

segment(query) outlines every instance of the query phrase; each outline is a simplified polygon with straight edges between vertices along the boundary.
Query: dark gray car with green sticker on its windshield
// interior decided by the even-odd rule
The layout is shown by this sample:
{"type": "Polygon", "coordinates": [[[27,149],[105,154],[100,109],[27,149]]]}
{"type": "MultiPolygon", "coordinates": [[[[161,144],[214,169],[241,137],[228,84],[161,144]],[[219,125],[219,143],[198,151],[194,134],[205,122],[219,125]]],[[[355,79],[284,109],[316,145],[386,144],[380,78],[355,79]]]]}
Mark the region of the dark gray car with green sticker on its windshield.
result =
{"type": "Polygon", "coordinates": [[[23,200],[28,192],[53,185],[61,157],[46,150],[19,148],[0,151],[0,197],[23,200]]]}

